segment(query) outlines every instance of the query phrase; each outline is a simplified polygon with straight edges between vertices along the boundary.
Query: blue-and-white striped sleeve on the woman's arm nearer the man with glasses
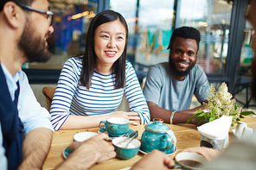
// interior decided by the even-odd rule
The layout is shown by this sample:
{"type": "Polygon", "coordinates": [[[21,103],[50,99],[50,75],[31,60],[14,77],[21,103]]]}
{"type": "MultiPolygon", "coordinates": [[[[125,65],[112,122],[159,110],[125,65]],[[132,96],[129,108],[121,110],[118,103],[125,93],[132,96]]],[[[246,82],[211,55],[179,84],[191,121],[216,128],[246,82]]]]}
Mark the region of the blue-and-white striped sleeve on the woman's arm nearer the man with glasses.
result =
{"type": "Polygon", "coordinates": [[[65,62],[61,70],[50,110],[51,122],[56,130],[61,128],[69,116],[71,101],[80,79],[80,64],[78,62],[81,60],[71,58],[65,62]]]}

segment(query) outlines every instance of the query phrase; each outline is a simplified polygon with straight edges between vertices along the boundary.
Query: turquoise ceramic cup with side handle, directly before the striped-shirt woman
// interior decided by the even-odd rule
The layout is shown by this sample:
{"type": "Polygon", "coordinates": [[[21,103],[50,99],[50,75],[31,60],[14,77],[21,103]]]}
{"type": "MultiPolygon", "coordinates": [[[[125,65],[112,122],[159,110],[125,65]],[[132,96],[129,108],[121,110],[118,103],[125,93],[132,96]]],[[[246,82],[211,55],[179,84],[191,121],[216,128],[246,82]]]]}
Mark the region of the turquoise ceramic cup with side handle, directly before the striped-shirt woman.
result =
{"type": "Polygon", "coordinates": [[[100,121],[99,128],[107,131],[108,135],[120,136],[125,135],[129,131],[130,121],[123,117],[110,117],[106,121],[100,121]],[[104,126],[101,126],[104,123],[104,126]]]}

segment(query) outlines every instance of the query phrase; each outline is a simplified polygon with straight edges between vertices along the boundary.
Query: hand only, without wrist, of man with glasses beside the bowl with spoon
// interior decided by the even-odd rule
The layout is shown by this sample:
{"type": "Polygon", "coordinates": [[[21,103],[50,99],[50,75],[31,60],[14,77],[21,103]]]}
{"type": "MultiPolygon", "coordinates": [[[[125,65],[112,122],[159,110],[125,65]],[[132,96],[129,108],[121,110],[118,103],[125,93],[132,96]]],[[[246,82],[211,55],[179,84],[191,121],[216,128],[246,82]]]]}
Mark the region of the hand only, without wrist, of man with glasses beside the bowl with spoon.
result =
{"type": "Polygon", "coordinates": [[[94,163],[109,160],[116,156],[114,147],[106,142],[109,139],[108,135],[100,134],[95,135],[85,142],[72,142],[70,148],[74,148],[74,152],[71,155],[77,157],[92,157],[94,163]]]}

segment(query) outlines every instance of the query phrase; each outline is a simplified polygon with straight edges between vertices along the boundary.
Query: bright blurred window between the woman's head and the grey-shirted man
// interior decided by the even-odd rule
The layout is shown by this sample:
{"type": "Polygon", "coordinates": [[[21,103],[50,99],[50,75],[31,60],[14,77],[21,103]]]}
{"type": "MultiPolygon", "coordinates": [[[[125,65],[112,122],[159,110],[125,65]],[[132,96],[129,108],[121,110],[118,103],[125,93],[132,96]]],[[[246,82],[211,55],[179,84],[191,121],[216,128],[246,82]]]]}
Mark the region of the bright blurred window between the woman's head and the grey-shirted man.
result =
{"type": "Polygon", "coordinates": [[[174,1],[140,0],[137,3],[137,0],[111,0],[110,8],[124,16],[129,25],[128,60],[136,70],[146,70],[148,66],[169,60],[167,47],[174,1]]]}

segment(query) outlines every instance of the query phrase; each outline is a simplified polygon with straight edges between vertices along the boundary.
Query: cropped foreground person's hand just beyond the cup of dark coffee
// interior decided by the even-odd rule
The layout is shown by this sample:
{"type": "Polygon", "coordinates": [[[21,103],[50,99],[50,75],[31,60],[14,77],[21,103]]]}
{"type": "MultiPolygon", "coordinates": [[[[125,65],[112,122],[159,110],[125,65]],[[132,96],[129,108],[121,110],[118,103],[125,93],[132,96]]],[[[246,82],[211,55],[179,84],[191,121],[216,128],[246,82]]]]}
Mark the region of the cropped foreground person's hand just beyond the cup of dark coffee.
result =
{"type": "Polygon", "coordinates": [[[184,148],[181,152],[193,152],[196,154],[201,154],[208,161],[213,161],[217,158],[221,151],[215,150],[214,148],[206,148],[206,147],[197,147],[197,148],[184,148]]]}

